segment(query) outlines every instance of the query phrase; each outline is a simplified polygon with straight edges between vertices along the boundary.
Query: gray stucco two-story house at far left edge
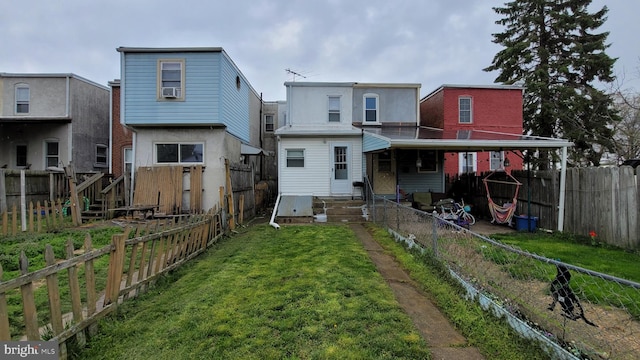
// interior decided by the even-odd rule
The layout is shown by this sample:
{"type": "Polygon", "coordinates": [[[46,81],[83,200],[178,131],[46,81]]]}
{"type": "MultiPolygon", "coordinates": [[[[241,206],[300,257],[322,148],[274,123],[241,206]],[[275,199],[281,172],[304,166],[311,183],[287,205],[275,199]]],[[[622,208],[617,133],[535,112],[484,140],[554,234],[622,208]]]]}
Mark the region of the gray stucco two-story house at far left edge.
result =
{"type": "Polygon", "coordinates": [[[74,74],[0,73],[0,167],[107,171],[109,88],[74,74]]]}

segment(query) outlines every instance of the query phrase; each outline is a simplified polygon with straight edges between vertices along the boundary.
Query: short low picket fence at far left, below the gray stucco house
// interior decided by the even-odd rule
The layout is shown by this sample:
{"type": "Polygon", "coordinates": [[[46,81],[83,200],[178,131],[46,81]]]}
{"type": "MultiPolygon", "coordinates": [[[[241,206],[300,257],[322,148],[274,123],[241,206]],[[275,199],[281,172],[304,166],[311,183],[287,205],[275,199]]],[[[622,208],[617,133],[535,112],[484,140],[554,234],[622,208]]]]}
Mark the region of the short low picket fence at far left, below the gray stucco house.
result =
{"type": "Polygon", "coordinates": [[[44,201],[42,205],[40,201],[36,202],[35,205],[30,202],[25,214],[26,221],[23,223],[22,213],[14,204],[10,211],[0,214],[0,234],[15,236],[19,231],[40,233],[72,225],[69,218],[63,216],[63,207],[64,202],[62,200],[52,203],[44,201]]]}

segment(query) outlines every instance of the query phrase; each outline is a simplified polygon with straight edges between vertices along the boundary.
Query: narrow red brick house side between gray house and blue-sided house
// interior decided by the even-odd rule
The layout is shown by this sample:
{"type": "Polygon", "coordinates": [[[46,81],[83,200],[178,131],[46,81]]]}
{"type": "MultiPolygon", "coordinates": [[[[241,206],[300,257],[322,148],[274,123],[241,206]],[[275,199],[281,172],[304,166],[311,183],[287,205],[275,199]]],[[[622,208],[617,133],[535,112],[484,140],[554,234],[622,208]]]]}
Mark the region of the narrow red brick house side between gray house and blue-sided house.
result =
{"type": "Polygon", "coordinates": [[[124,174],[125,169],[131,172],[133,132],[120,123],[120,80],[110,81],[109,87],[111,88],[109,172],[118,178],[124,174]]]}

